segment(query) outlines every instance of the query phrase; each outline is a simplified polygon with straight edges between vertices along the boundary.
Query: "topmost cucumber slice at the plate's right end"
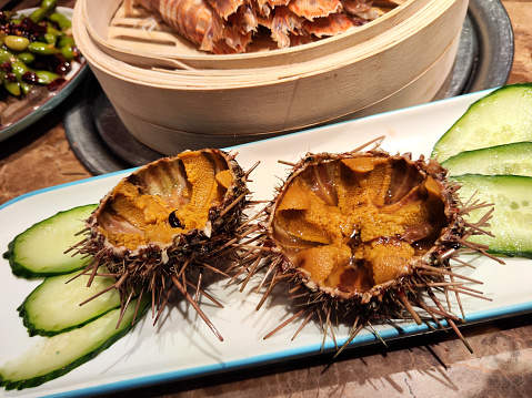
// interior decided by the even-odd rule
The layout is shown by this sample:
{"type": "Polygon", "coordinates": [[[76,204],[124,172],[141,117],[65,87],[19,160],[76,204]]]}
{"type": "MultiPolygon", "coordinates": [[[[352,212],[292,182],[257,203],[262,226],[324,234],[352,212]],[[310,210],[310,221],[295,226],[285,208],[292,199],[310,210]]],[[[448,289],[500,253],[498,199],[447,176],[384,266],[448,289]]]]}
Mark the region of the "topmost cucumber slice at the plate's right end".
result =
{"type": "Polygon", "coordinates": [[[463,151],[532,141],[532,83],[504,85],[471,104],[432,150],[441,163],[463,151]]]}

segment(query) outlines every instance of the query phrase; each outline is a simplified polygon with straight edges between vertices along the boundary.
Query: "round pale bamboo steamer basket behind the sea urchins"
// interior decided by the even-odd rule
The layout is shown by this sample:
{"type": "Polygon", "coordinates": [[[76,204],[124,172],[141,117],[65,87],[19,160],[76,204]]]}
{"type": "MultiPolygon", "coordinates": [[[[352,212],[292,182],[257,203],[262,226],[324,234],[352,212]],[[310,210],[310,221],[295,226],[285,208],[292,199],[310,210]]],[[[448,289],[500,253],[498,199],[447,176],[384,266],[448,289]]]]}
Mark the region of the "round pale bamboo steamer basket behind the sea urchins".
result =
{"type": "MultiPolygon", "coordinates": [[[[468,8],[466,0],[410,0],[401,6],[404,14],[398,8],[395,14],[382,17],[388,29],[380,33],[375,20],[360,37],[353,30],[300,48],[274,50],[272,55],[183,58],[173,52],[142,64],[150,59],[150,48],[130,49],[131,54],[142,53],[142,62],[137,63],[128,62],[123,52],[106,51],[112,40],[106,47],[101,34],[94,33],[102,33],[104,23],[93,21],[89,6],[98,1],[77,2],[77,43],[128,130],[164,154],[223,147],[429,102],[452,68],[468,8]],[[371,31],[374,35],[368,38],[371,31]],[[211,68],[169,67],[184,59],[188,65],[204,61],[211,68]]],[[[109,1],[109,9],[119,3],[109,1]]],[[[109,29],[111,21],[109,17],[109,29]]]]}

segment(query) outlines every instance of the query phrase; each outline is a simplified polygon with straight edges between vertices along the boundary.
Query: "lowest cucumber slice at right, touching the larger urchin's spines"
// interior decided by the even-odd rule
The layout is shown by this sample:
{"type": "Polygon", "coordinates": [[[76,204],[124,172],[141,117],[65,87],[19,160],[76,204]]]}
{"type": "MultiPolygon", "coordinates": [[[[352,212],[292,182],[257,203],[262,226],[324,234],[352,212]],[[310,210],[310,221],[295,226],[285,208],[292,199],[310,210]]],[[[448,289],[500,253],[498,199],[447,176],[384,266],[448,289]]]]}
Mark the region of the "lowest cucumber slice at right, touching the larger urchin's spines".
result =
{"type": "MultiPolygon", "coordinates": [[[[490,253],[532,258],[532,177],[519,175],[465,174],[451,176],[462,185],[459,191],[462,201],[473,196],[494,204],[488,235],[472,236],[470,241],[489,245],[490,253]]],[[[478,221],[484,210],[470,213],[469,220],[478,221]]]]}

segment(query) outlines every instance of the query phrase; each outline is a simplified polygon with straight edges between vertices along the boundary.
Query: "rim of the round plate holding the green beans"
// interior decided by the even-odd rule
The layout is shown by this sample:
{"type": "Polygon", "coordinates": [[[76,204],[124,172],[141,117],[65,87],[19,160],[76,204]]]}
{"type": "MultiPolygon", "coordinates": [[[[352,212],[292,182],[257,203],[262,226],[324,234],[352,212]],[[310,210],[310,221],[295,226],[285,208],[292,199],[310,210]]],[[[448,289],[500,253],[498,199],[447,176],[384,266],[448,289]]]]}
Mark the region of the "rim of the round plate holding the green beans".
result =
{"type": "MultiPolygon", "coordinates": [[[[17,13],[29,16],[33,10],[36,10],[36,8],[20,10],[17,11],[17,13]]],[[[71,8],[58,7],[57,10],[62,14],[67,16],[69,19],[72,19],[73,10],[71,8]]],[[[48,95],[37,105],[26,106],[26,112],[21,113],[19,119],[17,119],[16,121],[3,125],[0,124],[0,142],[29,127],[31,124],[38,122],[43,116],[46,116],[50,111],[59,106],[59,104],[61,104],[61,102],[63,102],[67,96],[69,96],[72,91],[74,91],[74,89],[81,83],[83,76],[88,73],[88,70],[89,67],[87,65],[87,62],[84,60],[82,60],[81,63],[73,62],[72,70],[66,75],[67,83],[64,83],[58,90],[50,92],[50,95],[48,95]]]]}

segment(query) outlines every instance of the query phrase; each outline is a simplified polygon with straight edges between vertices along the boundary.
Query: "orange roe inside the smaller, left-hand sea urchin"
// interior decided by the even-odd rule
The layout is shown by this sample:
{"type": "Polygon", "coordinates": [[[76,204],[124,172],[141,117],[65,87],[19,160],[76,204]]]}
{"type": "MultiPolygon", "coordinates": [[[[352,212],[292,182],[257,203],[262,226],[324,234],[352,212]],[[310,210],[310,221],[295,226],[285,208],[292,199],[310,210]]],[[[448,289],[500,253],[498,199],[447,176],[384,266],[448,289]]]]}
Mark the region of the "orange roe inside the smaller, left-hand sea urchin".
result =
{"type": "Polygon", "coordinates": [[[168,244],[179,234],[207,225],[209,210],[220,204],[232,175],[229,170],[217,171],[213,161],[200,151],[187,151],[178,157],[185,178],[165,181],[163,185],[171,192],[143,188],[127,180],[114,187],[110,198],[113,216],[127,223],[108,224],[128,228],[103,231],[109,243],[129,249],[149,243],[168,244]]]}

